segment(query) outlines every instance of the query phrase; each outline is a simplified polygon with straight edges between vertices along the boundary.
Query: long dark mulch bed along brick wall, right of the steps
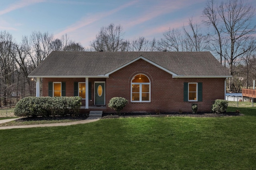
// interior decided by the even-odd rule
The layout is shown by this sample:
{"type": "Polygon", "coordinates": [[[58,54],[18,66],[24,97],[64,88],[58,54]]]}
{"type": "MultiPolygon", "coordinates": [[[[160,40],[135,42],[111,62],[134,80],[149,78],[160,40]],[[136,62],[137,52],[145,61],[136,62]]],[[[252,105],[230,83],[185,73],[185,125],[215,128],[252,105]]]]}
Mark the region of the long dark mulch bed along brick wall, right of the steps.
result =
{"type": "Polygon", "coordinates": [[[197,114],[192,113],[121,113],[121,115],[103,113],[101,119],[112,119],[112,118],[125,118],[125,117],[231,117],[231,116],[243,116],[241,113],[226,112],[226,113],[206,113],[198,112],[197,114]]]}

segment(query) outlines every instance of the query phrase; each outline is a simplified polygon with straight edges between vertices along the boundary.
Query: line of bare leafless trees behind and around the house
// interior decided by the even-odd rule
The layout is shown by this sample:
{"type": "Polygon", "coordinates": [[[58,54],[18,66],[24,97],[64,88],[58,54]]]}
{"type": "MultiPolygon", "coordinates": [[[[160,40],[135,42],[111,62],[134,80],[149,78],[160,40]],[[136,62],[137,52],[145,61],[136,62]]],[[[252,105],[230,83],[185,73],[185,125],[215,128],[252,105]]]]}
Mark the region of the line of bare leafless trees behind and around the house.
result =
{"type": "Polygon", "coordinates": [[[243,0],[220,4],[208,0],[202,22],[190,18],[188,26],[169,28],[159,40],[124,39],[122,26],[110,23],[100,28],[87,49],[68,35],[55,39],[51,33],[33,31],[17,43],[10,33],[0,31],[0,106],[35,96],[35,82],[28,74],[51,51],[211,51],[232,75],[228,90],[240,92],[242,87],[252,87],[256,79],[255,14],[255,8],[243,0]]]}

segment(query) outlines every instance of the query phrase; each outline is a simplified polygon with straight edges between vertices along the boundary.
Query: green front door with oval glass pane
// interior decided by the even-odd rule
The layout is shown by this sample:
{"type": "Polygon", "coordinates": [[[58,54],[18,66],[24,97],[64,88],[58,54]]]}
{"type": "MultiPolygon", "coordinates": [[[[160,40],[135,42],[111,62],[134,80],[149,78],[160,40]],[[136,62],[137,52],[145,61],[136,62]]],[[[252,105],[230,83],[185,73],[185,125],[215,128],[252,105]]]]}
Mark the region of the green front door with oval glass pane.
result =
{"type": "Polygon", "coordinates": [[[105,105],[105,82],[95,82],[95,105],[105,105]]]}

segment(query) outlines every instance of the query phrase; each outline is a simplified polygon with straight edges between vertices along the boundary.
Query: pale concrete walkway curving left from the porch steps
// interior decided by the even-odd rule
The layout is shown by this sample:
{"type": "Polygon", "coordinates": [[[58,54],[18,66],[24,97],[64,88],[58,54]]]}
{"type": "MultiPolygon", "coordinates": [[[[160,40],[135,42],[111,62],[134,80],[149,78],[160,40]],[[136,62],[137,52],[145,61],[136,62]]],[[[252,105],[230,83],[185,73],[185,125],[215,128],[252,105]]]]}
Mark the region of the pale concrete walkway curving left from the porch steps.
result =
{"type": "MultiPolygon", "coordinates": [[[[0,120],[0,123],[5,123],[8,121],[13,121],[20,118],[15,119],[4,119],[0,120]]],[[[38,124],[38,125],[20,125],[20,126],[4,126],[0,127],[0,129],[17,129],[17,128],[28,128],[28,127],[50,127],[50,126],[68,126],[68,125],[77,125],[77,124],[84,124],[84,123],[90,123],[94,121],[98,121],[99,117],[89,117],[85,120],[81,121],[72,121],[72,122],[66,122],[66,123],[48,123],[48,124],[38,124]]]]}

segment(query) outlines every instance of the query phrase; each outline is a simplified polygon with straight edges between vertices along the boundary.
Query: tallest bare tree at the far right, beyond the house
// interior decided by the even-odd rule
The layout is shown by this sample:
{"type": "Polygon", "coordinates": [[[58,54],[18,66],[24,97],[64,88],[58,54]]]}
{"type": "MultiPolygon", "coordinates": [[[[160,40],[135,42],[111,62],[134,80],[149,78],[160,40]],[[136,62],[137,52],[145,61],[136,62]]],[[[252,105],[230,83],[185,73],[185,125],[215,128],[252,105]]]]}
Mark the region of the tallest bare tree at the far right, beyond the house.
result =
{"type": "MultiPolygon", "coordinates": [[[[256,31],[256,25],[252,23],[255,16],[255,9],[242,0],[228,0],[221,3],[218,14],[224,24],[224,33],[228,35],[230,43],[225,51],[228,58],[230,74],[234,75],[234,64],[246,52],[254,48],[255,38],[252,36],[256,31]]],[[[229,88],[232,90],[233,79],[229,81],[229,88]]]]}

